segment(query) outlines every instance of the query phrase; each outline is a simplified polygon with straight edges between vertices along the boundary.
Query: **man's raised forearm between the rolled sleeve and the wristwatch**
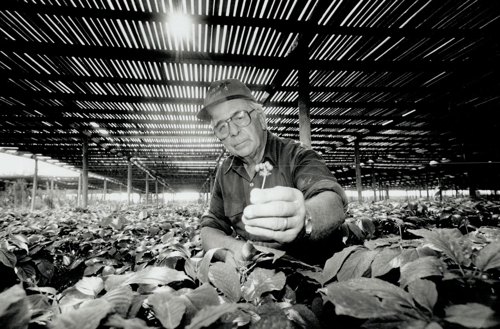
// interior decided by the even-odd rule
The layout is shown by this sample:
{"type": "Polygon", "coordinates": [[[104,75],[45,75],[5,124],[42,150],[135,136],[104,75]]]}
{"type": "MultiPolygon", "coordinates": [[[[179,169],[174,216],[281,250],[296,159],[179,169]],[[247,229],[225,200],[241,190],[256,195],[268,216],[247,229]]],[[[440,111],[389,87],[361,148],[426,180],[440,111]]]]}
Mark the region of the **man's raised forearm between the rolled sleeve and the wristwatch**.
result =
{"type": "Polygon", "coordinates": [[[305,201],[305,209],[312,217],[310,241],[320,242],[345,221],[342,200],[332,191],[321,192],[305,201]]]}

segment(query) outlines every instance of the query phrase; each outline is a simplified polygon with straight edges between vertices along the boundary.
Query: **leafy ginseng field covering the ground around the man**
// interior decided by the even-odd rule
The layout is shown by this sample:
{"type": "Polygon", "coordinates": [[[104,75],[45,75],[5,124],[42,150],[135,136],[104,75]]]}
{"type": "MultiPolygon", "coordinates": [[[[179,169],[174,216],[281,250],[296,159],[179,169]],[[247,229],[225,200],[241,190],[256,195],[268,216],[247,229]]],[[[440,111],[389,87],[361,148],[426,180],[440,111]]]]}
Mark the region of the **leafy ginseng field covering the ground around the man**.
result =
{"type": "Polygon", "coordinates": [[[3,210],[0,327],[500,325],[497,201],[353,203],[324,266],[249,242],[237,267],[214,261],[204,209],[3,210]]]}

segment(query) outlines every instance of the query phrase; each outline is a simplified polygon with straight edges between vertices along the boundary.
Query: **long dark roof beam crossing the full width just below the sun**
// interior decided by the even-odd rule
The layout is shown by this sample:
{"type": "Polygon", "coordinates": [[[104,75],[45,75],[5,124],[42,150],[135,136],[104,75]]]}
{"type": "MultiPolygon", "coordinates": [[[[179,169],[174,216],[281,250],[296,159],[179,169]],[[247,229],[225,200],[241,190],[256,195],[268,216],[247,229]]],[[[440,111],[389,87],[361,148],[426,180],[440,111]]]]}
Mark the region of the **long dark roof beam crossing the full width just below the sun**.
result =
{"type": "MultiPolygon", "coordinates": [[[[68,9],[70,7],[65,7],[68,9]]],[[[55,9],[54,8],[50,8],[55,9]]],[[[135,14],[135,13],[134,13],[135,14]]],[[[51,14],[53,15],[53,14],[51,14]]],[[[67,15],[67,14],[65,14],[67,15]]],[[[79,15],[79,14],[78,14],[79,15]]],[[[136,18],[134,18],[135,20],[136,18]]],[[[238,18],[239,19],[239,18],[238,18]]],[[[219,24],[219,23],[217,23],[219,24]]],[[[239,24],[238,24],[239,25],[239,24]]],[[[315,25],[313,29],[318,26],[315,25]]],[[[331,26],[328,26],[331,28],[331,26]]],[[[435,30],[435,29],[434,29],[435,30]]],[[[79,44],[50,44],[50,47],[33,47],[33,42],[21,40],[3,40],[0,44],[0,50],[4,52],[26,53],[30,56],[67,56],[67,57],[90,57],[96,59],[106,59],[104,54],[113,54],[113,59],[129,60],[129,61],[154,61],[162,63],[178,63],[178,54],[176,51],[154,50],[154,49],[130,49],[120,48],[117,52],[116,47],[112,46],[88,46],[79,44]]],[[[227,66],[244,66],[257,67],[265,69],[286,70],[295,67],[295,60],[290,56],[285,58],[267,57],[265,61],[251,55],[236,55],[236,54],[215,54],[215,53],[198,53],[198,52],[183,52],[182,63],[200,64],[200,65],[227,65],[227,66]]],[[[312,70],[356,70],[356,71],[387,71],[387,72],[434,72],[436,70],[460,70],[460,71],[480,71],[488,70],[493,67],[493,63],[489,61],[461,61],[462,65],[457,65],[453,61],[429,61],[429,60],[365,60],[365,61],[349,61],[347,59],[339,61],[324,61],[324,60],[306,60],[312,70]]]]}

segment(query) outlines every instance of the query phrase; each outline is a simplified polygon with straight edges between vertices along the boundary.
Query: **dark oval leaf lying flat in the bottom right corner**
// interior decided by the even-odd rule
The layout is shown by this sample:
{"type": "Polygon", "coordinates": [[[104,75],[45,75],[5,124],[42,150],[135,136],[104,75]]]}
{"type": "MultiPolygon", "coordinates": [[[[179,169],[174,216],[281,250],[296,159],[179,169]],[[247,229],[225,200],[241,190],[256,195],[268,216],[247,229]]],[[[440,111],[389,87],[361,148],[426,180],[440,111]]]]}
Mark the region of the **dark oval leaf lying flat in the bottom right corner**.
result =
{"type": "Polygon", "coordinates": [[[444,309],[448,322],[458,323],[471,328],[489,328],[496,326],[500,320],[494,316],[495,311],[479,303],[451,305],[444,309]]]}

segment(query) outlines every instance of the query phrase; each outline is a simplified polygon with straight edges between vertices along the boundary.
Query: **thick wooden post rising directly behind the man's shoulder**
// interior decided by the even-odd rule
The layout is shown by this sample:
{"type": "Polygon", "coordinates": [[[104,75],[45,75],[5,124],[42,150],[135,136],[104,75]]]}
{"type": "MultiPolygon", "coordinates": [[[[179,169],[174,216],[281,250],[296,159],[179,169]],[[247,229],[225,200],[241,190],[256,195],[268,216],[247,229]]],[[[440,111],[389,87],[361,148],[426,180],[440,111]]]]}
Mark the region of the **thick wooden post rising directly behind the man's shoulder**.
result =
{"type": "Polygon", "coordinates": [[[301,68],[298,70],[298,130],[299,139],[306,147],[311,147],[311,114],[309,111],[309,69],[306,65],[304,49],[301,68]]]}

